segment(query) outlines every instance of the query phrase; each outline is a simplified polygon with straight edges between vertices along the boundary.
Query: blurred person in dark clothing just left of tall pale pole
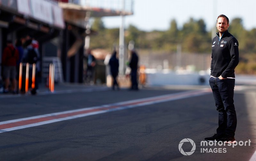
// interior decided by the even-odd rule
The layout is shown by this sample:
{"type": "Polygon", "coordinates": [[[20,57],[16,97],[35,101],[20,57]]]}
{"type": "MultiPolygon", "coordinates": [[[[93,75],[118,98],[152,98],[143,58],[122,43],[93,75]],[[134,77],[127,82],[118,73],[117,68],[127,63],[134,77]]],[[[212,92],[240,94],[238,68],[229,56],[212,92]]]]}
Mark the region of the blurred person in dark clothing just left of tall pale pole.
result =
{"type": "Polygon", "coordinates": [[[112,89],[115,90],[115,85],[117,86],[117,89],[119,89],[118,83],[116,81],[116,77],[118,75],[118,68],[119,68],[119,60],[116,58],[116,51],[113,52],[111,58],[109,59],[109,66],[110,66],[111,75],[113,77],[112,89]]]}

